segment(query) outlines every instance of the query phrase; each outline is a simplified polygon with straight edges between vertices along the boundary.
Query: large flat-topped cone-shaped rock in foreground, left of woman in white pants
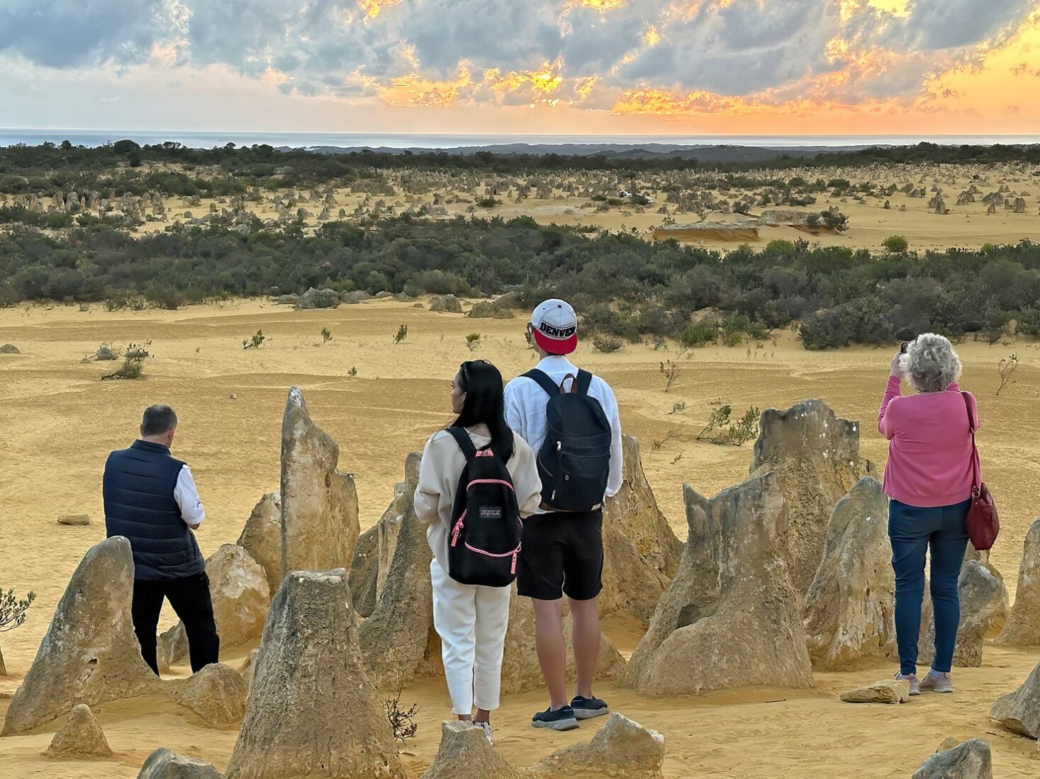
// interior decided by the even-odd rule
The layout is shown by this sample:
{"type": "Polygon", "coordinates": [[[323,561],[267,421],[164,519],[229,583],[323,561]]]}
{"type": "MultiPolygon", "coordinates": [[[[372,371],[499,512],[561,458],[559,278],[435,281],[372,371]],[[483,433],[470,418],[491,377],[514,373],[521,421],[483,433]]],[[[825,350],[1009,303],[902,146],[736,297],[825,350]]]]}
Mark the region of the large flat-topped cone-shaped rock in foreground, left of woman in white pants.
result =
{"type": "Polygon", "coordinates": [[[264,625],[228,779],[405,779],[360,657],[346,572],[286,575],[264,625]]]}

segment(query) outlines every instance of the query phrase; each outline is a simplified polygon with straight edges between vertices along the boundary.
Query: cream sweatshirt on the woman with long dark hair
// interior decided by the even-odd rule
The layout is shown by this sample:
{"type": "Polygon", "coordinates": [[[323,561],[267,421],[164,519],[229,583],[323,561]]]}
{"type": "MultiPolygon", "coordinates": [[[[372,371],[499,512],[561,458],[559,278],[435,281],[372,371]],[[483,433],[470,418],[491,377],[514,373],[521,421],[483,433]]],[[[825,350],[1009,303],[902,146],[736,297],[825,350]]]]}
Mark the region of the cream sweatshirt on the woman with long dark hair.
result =
{"type": "MultiPolygon", "coordinates": [[[[487,435],[467,430],[477,449],[491,444],[487,435]]],[[[542,502],[542,480],[538,476],[535,452],[516,433],[513,434],[513,457],[505,469],[513,479],[521,518],[535,513],[542,502]]],[[[415,516],[426,529],[426,541],[437,562],[447,572],[448,531],[451,528],[451,507],[454,504],[459,477],[466,466],[466,456],[451,433],[438,430],[430,436],[422,450],[419,485],[415,488],[415,516]]]]}

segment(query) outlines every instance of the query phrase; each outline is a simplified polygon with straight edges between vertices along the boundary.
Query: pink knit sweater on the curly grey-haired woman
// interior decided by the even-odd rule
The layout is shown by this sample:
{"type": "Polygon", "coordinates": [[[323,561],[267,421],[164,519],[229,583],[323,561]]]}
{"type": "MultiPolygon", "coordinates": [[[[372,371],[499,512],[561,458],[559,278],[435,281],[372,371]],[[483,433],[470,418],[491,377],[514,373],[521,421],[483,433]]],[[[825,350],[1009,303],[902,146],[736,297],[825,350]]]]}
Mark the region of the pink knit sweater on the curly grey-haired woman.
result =
{"type": "MultiPolygon", "coordinates": [[[[968,398],[978,429],[979,409],[970,393],[968,398]]],[[[899,377],[889,376],[878,430],[889,441],[886,495],[922,508],[971,496],[971,433],[957,382],[943,393],[902,397],[899,377]]]]}

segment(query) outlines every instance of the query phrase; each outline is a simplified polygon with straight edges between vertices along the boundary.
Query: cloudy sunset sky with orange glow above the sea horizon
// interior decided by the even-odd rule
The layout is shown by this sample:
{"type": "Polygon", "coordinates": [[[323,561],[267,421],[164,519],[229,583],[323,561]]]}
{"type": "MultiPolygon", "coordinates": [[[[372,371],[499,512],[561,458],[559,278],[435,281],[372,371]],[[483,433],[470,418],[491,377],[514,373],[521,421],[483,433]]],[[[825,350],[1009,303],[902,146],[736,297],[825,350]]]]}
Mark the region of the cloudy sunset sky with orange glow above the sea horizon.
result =
{"type": "Polygon", "coordinates": [[[0,127],[1030,133],[1040,0],[0,0],[0,127]]]}

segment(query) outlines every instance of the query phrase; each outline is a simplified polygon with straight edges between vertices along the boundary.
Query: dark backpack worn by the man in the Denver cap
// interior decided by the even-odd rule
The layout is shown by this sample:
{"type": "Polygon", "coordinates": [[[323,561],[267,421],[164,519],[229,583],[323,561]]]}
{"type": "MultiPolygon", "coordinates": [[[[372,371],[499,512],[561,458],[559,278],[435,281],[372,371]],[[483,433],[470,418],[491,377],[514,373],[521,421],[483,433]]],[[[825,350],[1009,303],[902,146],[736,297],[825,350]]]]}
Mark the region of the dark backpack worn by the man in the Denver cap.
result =
{"type": "Polygon", "coordinates": [[[610,475],[610,423],[589,397],[592,374],[567,374],[556,386],[537,368],[524,374],[549,395],[548,429],[538,453],[542,503],[557,511],[592,511],[603,503],[610,475]],[[571,391],[564,385],[571,380],[571,391]]]}

